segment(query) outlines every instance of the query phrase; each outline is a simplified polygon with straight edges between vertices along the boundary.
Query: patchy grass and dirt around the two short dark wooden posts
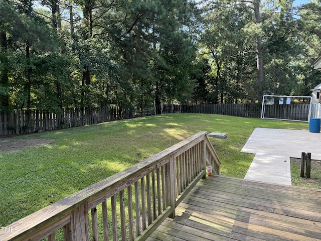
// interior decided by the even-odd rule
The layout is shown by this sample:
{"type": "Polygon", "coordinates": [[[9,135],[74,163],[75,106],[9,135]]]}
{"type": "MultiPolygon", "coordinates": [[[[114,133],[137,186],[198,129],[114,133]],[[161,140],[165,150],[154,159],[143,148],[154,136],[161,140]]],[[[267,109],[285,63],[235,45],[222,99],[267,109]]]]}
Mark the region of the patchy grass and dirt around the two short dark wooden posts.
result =
{"type": "Polygon", "coordinates": [[[300,166],[301,159],[291,158],[291,175],[292,175],[292,185],[293,186],[302,186],[302,187],[312,187],[321,189],[321,161],[320,160],[311,160],[311,178],[302,178],[300,177],[300,166]],[[294,170],[292,170],[292,168],[294,170]]]}

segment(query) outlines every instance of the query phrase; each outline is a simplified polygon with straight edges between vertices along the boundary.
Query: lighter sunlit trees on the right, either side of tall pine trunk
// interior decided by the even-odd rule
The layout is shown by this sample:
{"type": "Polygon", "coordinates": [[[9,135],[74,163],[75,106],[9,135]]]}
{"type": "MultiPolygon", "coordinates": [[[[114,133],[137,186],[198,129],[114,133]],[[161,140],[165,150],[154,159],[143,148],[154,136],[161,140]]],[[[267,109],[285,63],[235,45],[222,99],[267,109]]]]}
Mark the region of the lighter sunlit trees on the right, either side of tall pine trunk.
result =
{"type": "Polygon", "coordinates": [[[321,6],[292,4],[219,0],[205,5],[198,43],[199,54],[207,55],[211,65],[206,102],[260,101],[258,92],[310,95],[310,86],[319,82],[312,63],[321,52],[321,6]]]}

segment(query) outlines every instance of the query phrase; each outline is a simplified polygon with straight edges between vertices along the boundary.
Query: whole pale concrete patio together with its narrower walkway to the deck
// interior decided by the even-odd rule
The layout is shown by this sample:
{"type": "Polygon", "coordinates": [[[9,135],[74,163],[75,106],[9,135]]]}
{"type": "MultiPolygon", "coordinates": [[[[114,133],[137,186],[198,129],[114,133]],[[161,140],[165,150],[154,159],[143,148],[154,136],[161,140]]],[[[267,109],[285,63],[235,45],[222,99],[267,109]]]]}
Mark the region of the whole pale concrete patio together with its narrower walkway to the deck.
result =
{"type": "Polygon", "coordinates": [[[320,143],[320,133],[256,128],[241,150],[256,154],[245,179],[291,185],[290,157],[321,160],[320,143]]]}

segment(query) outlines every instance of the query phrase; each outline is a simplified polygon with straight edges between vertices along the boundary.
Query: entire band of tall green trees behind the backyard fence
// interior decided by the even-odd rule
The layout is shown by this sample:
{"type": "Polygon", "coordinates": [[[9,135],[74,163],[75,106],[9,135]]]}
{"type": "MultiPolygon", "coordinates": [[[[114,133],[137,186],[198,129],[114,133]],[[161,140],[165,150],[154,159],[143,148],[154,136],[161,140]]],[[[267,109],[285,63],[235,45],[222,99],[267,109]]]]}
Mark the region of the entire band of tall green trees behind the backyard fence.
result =
{"type": "Polygon", "coordinates": [[[0,108],[309,95],[321,3],[0,0],[0,108]]]}

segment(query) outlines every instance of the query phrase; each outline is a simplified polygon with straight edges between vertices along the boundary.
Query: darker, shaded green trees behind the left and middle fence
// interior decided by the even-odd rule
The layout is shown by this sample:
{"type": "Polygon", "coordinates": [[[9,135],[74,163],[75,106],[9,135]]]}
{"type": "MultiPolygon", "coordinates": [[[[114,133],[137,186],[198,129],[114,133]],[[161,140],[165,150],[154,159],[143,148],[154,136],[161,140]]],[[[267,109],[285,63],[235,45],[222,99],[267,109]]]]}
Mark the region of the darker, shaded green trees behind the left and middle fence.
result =
{"type": "Polygon", "coordinates": [[[189,100],[189,2],[1,1],[0,32],[10,40],[10,71],[0,66],[10,84],[1,90],[11,106],[151,104],[155,85],[162,101],[189,100]]]}

